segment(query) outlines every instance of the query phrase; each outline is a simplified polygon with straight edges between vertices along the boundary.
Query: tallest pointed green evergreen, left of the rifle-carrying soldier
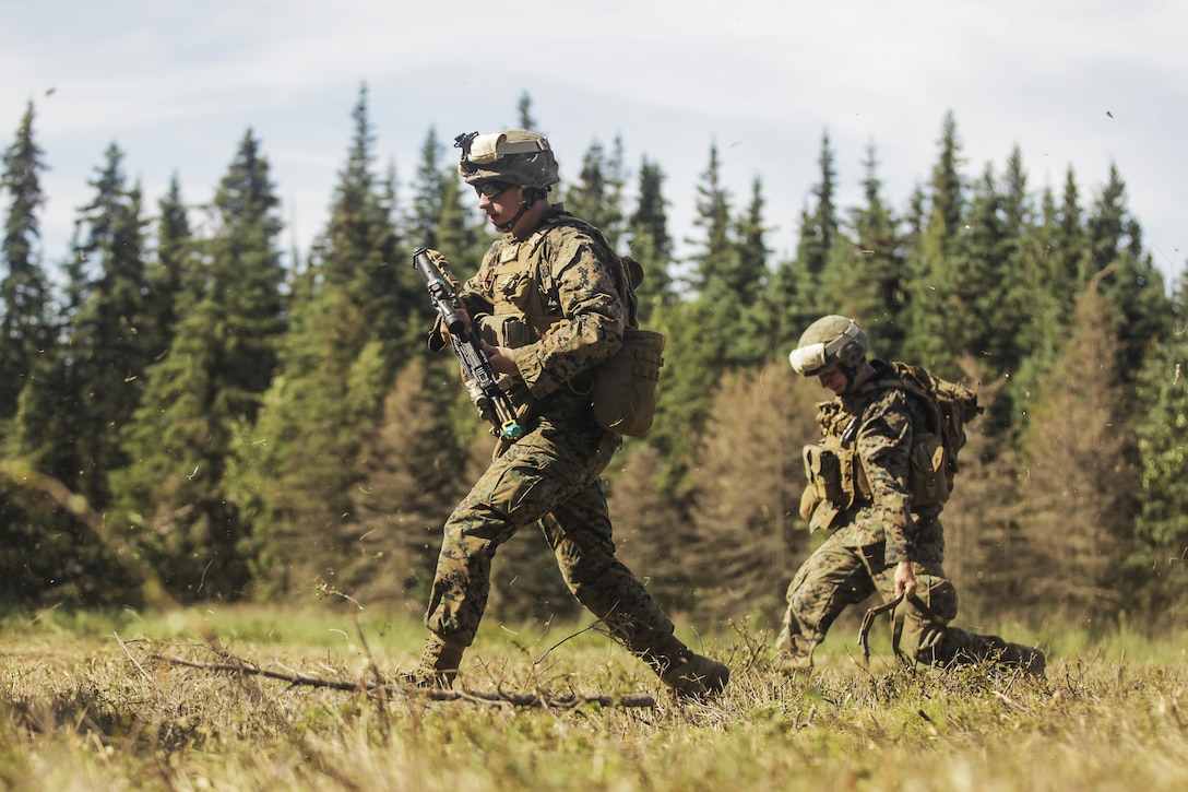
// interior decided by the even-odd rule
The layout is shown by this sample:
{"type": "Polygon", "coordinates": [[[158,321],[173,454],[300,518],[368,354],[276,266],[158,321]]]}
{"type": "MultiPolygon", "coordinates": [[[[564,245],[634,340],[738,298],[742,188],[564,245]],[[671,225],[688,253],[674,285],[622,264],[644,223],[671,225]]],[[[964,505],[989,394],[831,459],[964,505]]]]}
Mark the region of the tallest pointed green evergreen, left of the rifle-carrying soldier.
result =
{"type": "MultiPolygon", "coordinates": [[[[236,501],[258,548],[257,596],[334,585],[349,564],[361,450],[394,372],[429,327],[424,284],[372,172],[366,88],[330,220],[293,295],[277,376],[238,433],[236,501]],[[259,440],[259,442],[258,442],[259,440]]],[[[419,341],[419,344],[418,344],[419,341]]]]}

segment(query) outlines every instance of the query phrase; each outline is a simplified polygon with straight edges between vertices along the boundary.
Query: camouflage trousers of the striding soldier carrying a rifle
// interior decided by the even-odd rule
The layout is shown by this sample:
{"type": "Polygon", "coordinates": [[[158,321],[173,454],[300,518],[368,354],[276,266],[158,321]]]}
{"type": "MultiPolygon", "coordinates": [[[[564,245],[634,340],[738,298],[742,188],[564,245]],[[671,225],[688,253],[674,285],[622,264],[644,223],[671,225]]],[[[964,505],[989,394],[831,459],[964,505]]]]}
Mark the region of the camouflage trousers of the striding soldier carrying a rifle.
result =
{"type": "Polygon", "coordinates": [[[590,419],[576,426],[542,419],[503,448],[446,522],[425,627],[469,646],[487,606],[495,552],[538,523],[565,585],[617,640],[639,654],[671,636],[671,621],[615,558],[600,476],[619,442],[590,419]]]}

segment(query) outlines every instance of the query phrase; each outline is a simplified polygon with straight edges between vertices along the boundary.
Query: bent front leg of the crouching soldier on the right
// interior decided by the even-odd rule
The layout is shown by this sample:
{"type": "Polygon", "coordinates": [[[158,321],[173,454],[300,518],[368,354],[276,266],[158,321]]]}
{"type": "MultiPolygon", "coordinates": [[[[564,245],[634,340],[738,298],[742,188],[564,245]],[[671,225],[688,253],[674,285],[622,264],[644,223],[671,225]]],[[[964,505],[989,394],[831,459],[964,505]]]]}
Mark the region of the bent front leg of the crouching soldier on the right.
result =
{"type": "Polygon", "coordinates": [[[811,668],[813,650],[838,616],[874,592],[864,551],[842,542],[840,534],[829,536],[789,584],[788,610],[776,639],[776,670],[794,673],[811,668]]]}

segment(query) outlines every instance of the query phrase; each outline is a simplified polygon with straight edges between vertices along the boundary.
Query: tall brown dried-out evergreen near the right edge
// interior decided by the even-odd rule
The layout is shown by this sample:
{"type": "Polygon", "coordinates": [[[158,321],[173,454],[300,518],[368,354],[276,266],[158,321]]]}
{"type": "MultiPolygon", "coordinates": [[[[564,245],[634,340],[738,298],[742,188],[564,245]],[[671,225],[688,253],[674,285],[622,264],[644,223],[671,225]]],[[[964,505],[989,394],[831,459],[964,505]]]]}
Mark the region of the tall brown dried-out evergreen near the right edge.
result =
{"type": "Polygon", "coordinates": [[[1078,303],[1063,354],[1025,406],[1031,421],[1020,438],[1023,599],[1089,618],[1125,604],[1117,584],[1138,486],[1116,372],[1119,310],[1094,285],[1078,303]]]}

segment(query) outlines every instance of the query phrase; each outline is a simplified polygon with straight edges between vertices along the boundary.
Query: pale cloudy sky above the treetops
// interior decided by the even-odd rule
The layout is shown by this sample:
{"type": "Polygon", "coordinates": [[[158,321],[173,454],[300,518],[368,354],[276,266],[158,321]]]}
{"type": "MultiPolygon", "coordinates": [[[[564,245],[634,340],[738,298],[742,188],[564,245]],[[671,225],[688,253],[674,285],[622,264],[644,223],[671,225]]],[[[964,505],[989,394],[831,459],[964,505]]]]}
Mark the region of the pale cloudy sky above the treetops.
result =
{"type": "Polygon", "coordinates": [[[1088,209],[1116,165],[1170,284],[1188,262],[1186,38],[1183,0],[0,0],[0,147],[32,101],[53,266],[110,144],[156,210],[175,176],[188,203],[209,201],[251,128],[282,246],[305,251],[361,86],[377,169],[393,165],[405,197],[430,130],[448,145],[514,126],[526,94],[562,180],[593,143],[621,140],[628,196],[657,163],[678,243],[716,146],[737,212],[760,180],[786,258],[823,136],[841,209],[860,203],[873,149],[883,200],[904,212],[952,113],[968,181],[1017,147],[1031,193],[1060,197],[1072,168],[1088,209]]]}

